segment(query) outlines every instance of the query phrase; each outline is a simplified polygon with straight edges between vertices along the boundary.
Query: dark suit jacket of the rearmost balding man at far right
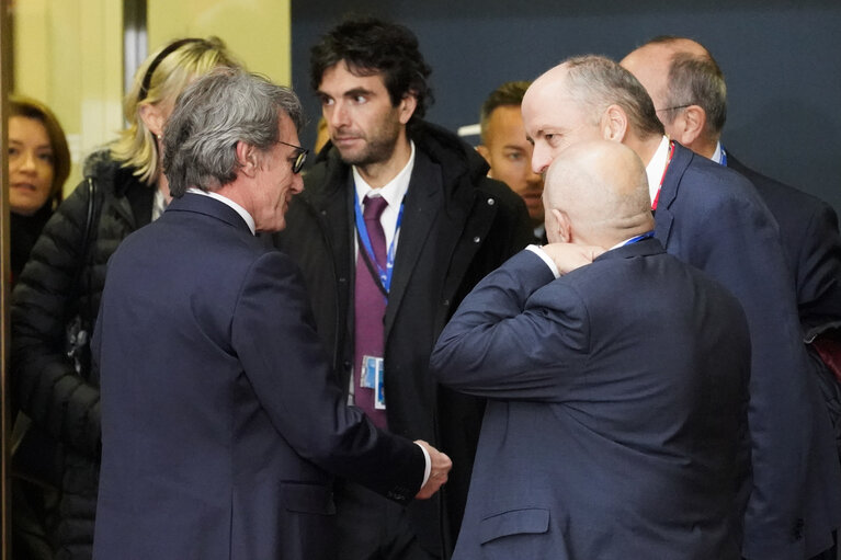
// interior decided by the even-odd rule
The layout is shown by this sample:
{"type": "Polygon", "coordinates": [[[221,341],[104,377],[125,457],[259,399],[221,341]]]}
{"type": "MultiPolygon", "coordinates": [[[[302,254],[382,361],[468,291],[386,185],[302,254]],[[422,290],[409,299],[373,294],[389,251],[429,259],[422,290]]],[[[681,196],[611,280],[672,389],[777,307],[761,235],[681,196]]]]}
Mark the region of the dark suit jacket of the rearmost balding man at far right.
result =
{"type": "Polygon", "coordinates": [[[829,324],[840,324],[841,236],[836,210],[816,196],[745,167],[729,152],[727,167],[753,183],[780,226],[806,340],[829,324]]]}

